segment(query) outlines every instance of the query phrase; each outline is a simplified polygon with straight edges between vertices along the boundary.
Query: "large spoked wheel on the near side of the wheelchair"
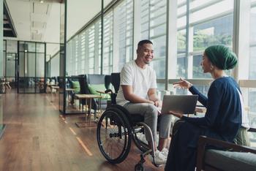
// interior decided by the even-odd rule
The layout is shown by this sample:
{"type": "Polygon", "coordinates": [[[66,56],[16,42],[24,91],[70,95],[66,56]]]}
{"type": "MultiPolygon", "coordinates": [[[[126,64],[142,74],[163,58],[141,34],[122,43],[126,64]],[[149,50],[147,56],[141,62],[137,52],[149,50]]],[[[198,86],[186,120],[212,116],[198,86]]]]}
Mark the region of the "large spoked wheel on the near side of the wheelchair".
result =
{"type": "Polygon", "coordinates": [[[102,155],[112,164],[127,158],[132,142],[132,129],[124,113],[110,107],[99,118],[97,142],[102,155]]]}

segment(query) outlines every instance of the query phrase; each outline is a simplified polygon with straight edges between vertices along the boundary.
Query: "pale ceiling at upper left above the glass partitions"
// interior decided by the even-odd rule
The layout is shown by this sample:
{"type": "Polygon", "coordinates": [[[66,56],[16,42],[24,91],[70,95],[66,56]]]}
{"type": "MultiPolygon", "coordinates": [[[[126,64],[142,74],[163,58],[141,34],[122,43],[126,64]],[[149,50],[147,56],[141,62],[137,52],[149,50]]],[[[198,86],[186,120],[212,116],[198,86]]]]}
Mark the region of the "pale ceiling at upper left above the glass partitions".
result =
{"type": "MultiPolygon", "coordinates": [[[[4,12],[4,39],[59,43],[60,4],[64,0],[4,1],[7,11],[4,12]]],[[[104,7],[110,1],[104,0],[104,7]]],[[[67,0],[67,5],[69,39],[100,12],[101,0],[67,0]]]]}

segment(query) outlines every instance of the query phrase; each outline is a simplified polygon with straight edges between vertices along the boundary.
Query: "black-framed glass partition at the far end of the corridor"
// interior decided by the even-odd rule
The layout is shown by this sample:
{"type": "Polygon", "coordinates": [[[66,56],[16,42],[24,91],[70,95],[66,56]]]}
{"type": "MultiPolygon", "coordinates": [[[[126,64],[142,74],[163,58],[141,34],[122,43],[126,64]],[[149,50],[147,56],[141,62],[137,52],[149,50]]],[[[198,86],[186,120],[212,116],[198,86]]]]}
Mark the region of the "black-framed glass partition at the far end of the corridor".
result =
{"type": "Polygon", "coordinates": [[[45,92],[45,43],[18,42],[18,93],[45,92]]]}

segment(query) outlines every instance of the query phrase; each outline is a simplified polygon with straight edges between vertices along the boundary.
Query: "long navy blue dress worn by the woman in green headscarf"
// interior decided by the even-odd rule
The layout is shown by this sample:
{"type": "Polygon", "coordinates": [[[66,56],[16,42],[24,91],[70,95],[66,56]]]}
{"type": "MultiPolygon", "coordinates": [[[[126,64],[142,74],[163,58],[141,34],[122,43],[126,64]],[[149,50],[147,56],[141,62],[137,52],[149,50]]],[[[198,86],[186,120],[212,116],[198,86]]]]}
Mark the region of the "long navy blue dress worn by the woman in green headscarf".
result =
{"type": "Polygon", "coordinates": [[[197,141],[200,135],[233,142],[241,126],[241,90],[232,77],[220,77],[211,83],[208,98],[192,86],[192,94],[207,110],[203,118],[183,116],[184,123],[172,137],[165,170],[194,171],[197,141]]]}

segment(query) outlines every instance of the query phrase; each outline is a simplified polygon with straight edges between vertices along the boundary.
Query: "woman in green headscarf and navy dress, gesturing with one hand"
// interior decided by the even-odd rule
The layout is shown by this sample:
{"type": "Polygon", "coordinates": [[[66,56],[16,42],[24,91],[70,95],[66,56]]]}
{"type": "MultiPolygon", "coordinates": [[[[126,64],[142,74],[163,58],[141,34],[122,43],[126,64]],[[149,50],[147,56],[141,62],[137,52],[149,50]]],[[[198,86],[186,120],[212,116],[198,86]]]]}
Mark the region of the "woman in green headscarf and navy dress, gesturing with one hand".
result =
{"type": "Polygon", "coordinates": [[[170,114],[181,118],[181,124],[173,133],[165,170],[194,171],[200,135],[233,142],[242,123],[242,96],[236,80],[227,76],[225,70],[233,69],[236,64],[236,54],[228,47],[213,45],[206,48],[201,61],[203,72],[209,72],[214,79],[207,97],[187,80],[173,83],[197,94],[199,102],[206,107],[206,115],[203,118],[189,118],[171,111],[170,114]]]}

